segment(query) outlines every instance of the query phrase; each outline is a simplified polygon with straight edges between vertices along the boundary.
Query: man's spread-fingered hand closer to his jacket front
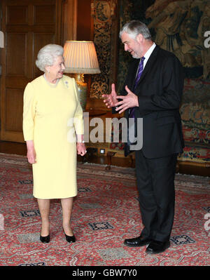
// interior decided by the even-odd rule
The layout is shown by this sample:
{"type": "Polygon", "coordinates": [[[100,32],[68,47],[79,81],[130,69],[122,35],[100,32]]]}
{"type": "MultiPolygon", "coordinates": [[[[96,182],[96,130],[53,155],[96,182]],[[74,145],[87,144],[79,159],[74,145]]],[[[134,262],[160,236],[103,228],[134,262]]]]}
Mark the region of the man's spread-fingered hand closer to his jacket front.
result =
{"type": "Polygon", "coordinates": [[[119,111],[120,114],[128,108],[139,107],[137,95],[132,93],[127,86],[125,86],[125,91],[127,91],[127,95],[117,95],[117,99],[121,99],[121,101],[117,102],[115,106],[118,106],[116,111],[119,111]]]}

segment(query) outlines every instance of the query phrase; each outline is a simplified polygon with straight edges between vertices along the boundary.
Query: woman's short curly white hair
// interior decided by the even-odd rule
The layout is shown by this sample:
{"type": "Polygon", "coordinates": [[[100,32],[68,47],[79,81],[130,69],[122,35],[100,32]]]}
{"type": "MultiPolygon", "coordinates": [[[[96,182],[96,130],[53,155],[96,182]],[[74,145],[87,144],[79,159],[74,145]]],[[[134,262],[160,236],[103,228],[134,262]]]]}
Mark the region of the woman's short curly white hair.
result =
{"type": "Polygon", "coordinates": [[[53,65],[57,56],[63,55],[63,53],[64,48],[62,46],[48,44],[38,52],[36,66],[45,72],[45,67],[53,65]]]}

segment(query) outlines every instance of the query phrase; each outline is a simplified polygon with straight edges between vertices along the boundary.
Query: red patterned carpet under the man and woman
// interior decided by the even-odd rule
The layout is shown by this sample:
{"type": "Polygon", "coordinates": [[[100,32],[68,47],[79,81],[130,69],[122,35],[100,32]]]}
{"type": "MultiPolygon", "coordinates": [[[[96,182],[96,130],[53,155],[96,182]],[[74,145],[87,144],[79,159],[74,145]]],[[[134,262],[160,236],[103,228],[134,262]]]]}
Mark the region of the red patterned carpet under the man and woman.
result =
{"type": "Polygon", "coordinates": [[[146,255],[125,238],[142,229],[132,168],[78,164],[78,196],[72,225],[77,242],[62,231],[59,200],[50,208],[49,244],[39,241],[41,218],[32,196],[32,173],[24,156],[0,154],[0,266],[208,266],[210,178],[176,174],[176,212],[171,247],[146,255]]]}

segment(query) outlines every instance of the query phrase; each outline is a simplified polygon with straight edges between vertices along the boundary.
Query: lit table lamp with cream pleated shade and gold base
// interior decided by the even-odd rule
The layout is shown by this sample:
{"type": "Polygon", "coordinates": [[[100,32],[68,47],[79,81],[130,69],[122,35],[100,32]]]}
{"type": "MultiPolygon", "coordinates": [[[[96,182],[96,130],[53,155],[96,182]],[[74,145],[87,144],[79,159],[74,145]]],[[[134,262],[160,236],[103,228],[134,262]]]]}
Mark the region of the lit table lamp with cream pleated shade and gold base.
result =
{"type": "Polygon", "coordinates": [[[83,110],[87,101],[87,84],[84,74],[101,73],[97,53],[92,41],[66,41],[64,44],[65,72],[76,75],[79,98],[83,110]]]}

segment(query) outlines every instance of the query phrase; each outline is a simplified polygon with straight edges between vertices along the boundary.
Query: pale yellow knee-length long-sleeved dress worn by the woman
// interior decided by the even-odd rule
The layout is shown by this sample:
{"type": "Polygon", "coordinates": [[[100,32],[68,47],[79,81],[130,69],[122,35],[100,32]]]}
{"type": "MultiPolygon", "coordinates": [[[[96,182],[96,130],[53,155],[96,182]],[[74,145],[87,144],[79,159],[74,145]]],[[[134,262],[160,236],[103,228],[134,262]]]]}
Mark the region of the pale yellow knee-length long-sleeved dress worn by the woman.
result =
{"type": "Polygon", "coordinates": [[[77,195],[76,134],[83,134],[83,109],[74,79],[63,76],[50,84],[44,76],[27,84],[23,134],[34,140],[34,197],[64,199],[77,195]]]}

